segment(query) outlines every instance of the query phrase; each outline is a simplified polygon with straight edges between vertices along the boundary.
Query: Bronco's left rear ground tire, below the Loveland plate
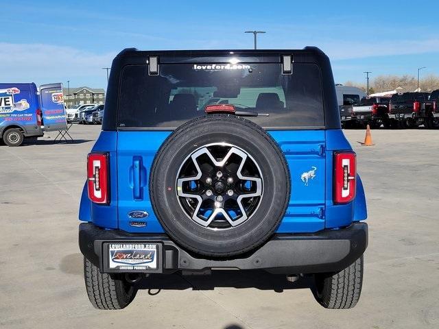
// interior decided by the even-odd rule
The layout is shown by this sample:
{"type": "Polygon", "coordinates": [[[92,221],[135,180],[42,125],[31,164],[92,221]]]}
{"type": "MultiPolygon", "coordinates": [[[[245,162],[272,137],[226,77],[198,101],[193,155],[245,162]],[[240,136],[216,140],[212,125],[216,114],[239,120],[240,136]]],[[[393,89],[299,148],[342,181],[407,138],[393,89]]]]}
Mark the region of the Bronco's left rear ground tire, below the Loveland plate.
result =
{"type": "Polygon", "coordinates": [[[101,273],[99,268],[84,257],[84,279],[88,299],[100,310],[118,310],[128,306],[137,293],[137,288],[122,279],[101,273]]]}

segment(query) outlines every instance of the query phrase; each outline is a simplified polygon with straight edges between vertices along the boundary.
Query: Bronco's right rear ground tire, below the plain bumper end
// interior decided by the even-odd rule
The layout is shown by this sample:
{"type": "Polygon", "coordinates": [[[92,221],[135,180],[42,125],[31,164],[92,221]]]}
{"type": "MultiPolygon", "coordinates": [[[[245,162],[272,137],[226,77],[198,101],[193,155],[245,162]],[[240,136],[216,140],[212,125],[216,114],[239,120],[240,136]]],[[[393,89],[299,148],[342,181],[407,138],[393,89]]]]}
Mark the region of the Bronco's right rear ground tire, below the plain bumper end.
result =
{"type": "Polygon", "coordinates": [[[314,275],[314,297],[325,308],[353,308],[363,284],[363,256],[337,273],[314,275]]]}

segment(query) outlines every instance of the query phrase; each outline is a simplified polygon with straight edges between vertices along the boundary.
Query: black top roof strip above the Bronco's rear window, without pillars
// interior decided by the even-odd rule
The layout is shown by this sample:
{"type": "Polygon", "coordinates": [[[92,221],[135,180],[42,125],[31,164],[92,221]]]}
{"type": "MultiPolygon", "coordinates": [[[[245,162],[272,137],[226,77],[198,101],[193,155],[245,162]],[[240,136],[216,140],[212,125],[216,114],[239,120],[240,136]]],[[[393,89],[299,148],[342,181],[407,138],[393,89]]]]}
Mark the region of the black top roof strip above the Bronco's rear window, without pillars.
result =
{"type": "Polygon", "coordinates": [[[240,58],[241,62],[280,62],[282,55],[292,55],[294,62],[319,62],[327,56],[318,47],[304,49],[217,49],[217,50],[138,50],[126,48],[116,58],[147,58],[158,56],[159,62],[222,62],[230,57],[240,58]]]}

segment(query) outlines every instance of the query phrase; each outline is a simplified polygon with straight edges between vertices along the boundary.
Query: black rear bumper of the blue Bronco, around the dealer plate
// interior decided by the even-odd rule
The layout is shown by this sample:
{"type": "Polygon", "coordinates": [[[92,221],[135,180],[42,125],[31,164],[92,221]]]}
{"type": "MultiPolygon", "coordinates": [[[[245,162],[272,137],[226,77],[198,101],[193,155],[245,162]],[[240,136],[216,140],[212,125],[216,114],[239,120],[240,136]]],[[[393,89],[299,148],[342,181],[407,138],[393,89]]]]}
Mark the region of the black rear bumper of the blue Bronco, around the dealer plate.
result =
{"type": "Polygon", "coordinates": [[[202,271],[212,268],[265,269],[278,273],[319,273],[340,271],[361,256],[368,245],[366,223],[353,223],[340,230],[323,230],[313,234],[275,234],[259,249],[233,259],[206,259],[193,255],[171,241],[165,234],[128,234],[103,230],[92,223],[81,223],[79,244],[82,254],[106,273],[110,270],[103,256],[104,243],[161,243],[160,269],[145,273],[172,273],[178,270],[202,271]]]}

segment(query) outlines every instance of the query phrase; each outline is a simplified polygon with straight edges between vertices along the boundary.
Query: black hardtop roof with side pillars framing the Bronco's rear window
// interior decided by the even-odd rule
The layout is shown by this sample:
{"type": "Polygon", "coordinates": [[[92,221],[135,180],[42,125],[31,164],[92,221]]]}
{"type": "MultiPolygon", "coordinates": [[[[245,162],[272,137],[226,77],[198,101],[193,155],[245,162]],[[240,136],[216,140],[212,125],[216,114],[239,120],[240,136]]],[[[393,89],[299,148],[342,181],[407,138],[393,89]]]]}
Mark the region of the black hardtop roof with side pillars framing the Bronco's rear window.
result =
{"type": "Polygon", "coordinates": [[[281,56],[291,55],[294,64],[311,63],[320,67],[324,99],[325,129],[340,129],[340,112],[335,83],[328,56],[318,47],[304,49],[226,49],[226,50],[150,50],[123,49],[112,61],[108,81],[103,130],[117,129],[117,107],[122,71],[127,65],[145,65],[149,56],[158,56],[158,64],[229,63],[237,58],[242,63],[280,63],[281,56]]]}

